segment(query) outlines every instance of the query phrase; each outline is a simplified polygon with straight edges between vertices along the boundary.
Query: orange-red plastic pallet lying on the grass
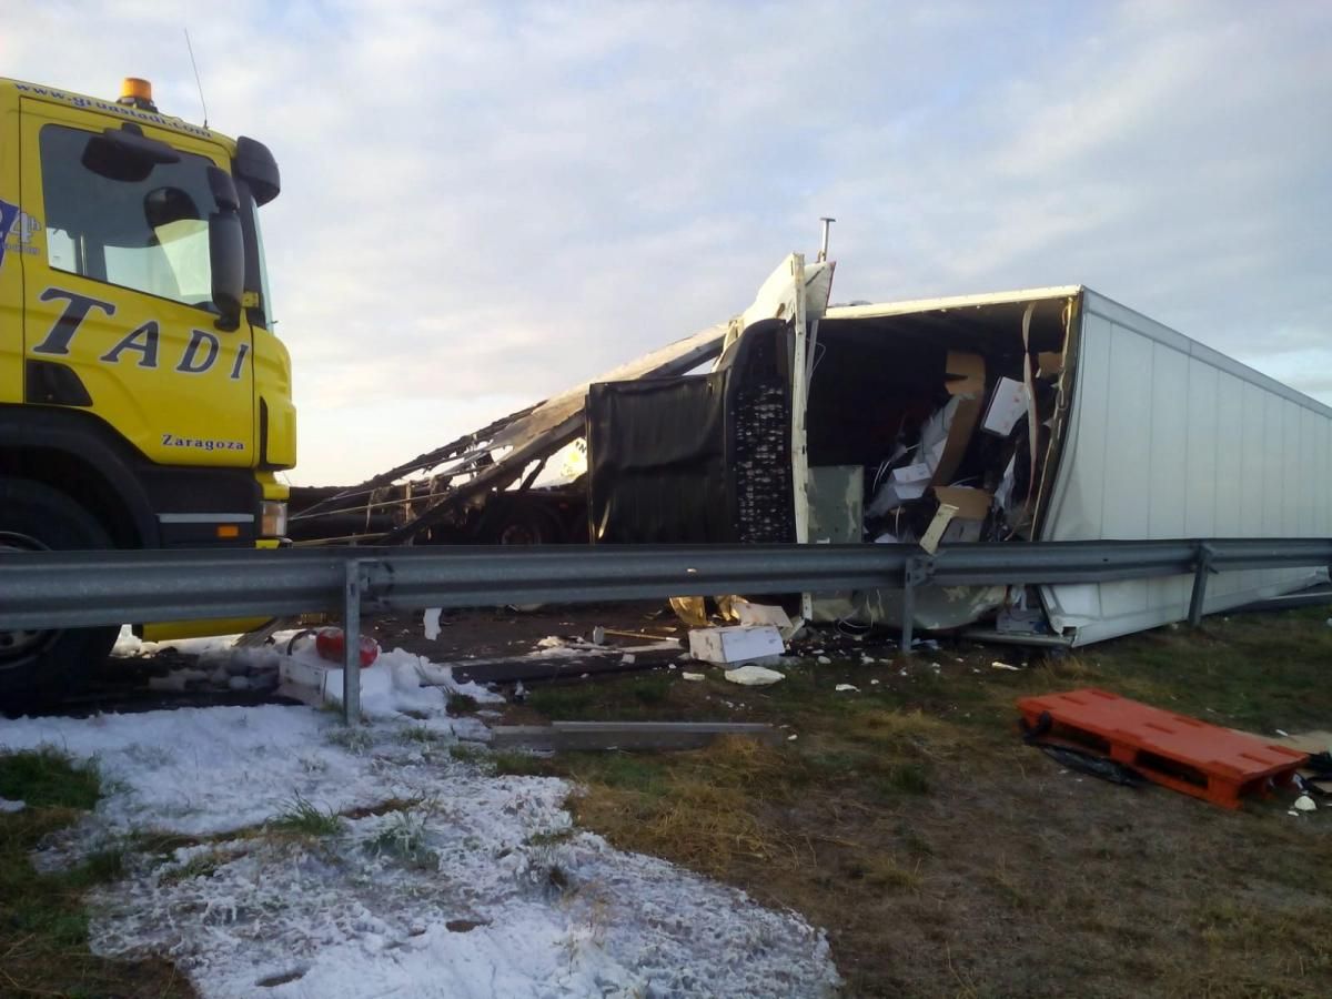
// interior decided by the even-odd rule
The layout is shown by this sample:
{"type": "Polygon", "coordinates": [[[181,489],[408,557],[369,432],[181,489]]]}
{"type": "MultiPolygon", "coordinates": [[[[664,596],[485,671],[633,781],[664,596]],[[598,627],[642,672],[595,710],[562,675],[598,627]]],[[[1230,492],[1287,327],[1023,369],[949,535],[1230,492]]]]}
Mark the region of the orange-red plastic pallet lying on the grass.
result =
{"type": "Polygon", "coordinates": [[[1143,777],[1227,809],[1240,797],[1288,785],[1308,755],[1252,735],[1087,687],[1068,694],[1024,697],[1027,725],[1050,715],[1047,737],[1138,770],[1143,777]]]}

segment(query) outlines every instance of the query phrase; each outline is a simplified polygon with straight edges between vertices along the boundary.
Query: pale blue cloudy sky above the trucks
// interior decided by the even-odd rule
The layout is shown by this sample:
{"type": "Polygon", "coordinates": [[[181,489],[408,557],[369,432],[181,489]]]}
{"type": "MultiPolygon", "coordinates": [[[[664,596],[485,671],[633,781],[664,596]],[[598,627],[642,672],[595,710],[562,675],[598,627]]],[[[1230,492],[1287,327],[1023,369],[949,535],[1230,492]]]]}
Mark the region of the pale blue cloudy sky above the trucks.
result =
{"type": "Polygon", "coordinates": [[[264,140],[342,484],[726,318],[1088,284],[1332,404],[1332,4],[5,0],[0,73],[264,140]]]}

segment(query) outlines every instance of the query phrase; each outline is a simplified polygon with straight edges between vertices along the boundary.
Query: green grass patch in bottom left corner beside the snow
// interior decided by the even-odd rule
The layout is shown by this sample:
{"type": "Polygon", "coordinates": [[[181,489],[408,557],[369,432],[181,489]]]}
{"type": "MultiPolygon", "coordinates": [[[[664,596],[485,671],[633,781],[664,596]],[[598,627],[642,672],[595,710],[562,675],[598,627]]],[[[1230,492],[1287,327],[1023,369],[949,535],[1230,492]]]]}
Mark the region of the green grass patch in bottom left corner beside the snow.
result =
{"type": "Polygon", "coordinates": [[[31,854],[47,836],[96,806],[101,785],[96,765],[53,749],[0,754],[0,797],[27,803],[0,814],[0,995],[193,995],[168,962],[116,962],[88,950],[84,895],[123,875],[123,847],[60,872],[32,866],[31,854]]]}

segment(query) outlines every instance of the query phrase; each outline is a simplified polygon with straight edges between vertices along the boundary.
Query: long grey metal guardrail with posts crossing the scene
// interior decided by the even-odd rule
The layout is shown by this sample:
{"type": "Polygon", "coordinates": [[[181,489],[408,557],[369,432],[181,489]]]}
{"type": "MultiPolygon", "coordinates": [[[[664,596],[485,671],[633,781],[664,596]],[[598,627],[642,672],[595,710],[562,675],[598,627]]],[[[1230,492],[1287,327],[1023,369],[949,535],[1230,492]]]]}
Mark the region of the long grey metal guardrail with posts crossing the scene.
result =
{"type": "MultiPolygon", "coordinates": [[[[341,611],[354,662],[362,610],[902,587],[910,649],[920,586],[1189,574],[1196,623],[1215,573],[1327,565],[1332,538],[998,542],[934,555],[914,545],[15,551],[0,557],[0,630],[341,611]]],[[[360,670],[344,681],[354,718],[360,670]]]]}

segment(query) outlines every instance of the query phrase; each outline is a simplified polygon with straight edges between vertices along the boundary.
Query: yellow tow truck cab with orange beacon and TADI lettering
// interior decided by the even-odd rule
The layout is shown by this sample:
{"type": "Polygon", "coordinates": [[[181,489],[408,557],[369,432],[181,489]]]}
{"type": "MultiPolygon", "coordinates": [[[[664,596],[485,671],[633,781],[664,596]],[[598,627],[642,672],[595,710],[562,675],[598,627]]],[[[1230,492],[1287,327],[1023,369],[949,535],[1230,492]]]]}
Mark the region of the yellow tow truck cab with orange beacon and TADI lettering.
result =
{"type": "MultiPolygon", "coordinates": [[[[270,546],[296,464],[253,139],[0,79],[0,555],[270,546]]],[[[77,682],[115,630],[0,631],[0,699],[77,682]]]]}

